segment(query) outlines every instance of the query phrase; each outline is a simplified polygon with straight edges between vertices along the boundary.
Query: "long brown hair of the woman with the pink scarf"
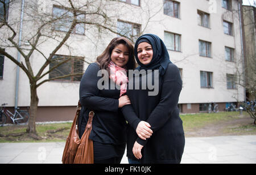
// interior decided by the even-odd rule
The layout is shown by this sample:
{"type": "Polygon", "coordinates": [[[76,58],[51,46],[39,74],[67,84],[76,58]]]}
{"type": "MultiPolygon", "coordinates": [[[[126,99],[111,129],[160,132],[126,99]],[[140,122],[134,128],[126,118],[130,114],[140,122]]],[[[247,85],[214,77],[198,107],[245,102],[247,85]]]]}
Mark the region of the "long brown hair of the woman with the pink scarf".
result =
{"type": "Polygon", "coordinates": [[[129,60],[125,65],[127,70],[135,69],[135,58],[134,58],[134,47],[133,44],[125,37],[115,37],[112,41],[110,41],[109,45],[106,47],[104,52],[97,57],[96,63],[100,66],[100,69],[105,69],[109,72],[109,62],[111,61],[111,54],[115,46],[123,44],[127,46],[129,50],[129,60]]]}

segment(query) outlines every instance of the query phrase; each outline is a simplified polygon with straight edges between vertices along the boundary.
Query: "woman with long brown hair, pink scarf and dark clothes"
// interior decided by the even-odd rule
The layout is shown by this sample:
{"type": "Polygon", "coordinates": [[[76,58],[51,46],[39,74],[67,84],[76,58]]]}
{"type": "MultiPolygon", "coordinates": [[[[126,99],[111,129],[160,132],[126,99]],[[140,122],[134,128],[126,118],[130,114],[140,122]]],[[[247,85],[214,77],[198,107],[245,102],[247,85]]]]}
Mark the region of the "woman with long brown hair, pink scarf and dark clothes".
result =
{"type": "Polygon", "coordinates": [[[91,63],[80,83],[79,135],[84,133],[88,114],[93,110],[92,131],[94,163],[120,163],[126,146],[126,121],[121,108],[130,104],[126,94],[127,70],[135,67],[134,48],[125,37],[114,38],[91,63]],[[100,71],[108,72],[105,82],[100,71]],[[110,87],[114,83],[114,88],[110,87]],[[107,86],[106,86],[107,85],[107,86]],[[103,86],[99,87],[99,86],[103,86]]]}

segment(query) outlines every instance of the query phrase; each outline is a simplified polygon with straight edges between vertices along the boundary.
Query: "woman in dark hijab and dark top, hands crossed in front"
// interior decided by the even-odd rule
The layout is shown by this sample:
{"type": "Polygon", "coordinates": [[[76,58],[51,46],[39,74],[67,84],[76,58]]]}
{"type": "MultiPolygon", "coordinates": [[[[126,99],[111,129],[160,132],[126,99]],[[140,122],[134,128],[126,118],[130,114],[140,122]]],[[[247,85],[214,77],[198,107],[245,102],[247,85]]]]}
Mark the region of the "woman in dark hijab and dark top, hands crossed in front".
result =
{"type": "Polygon", "coordinates": [[[134,52],[139,73],[129,78],[133,83],[127,89],[131,105],[122,108],[129,123],[129,163],[180,163],[185,137],[177,108],[182,88],[179,69],[171,63],[166,46],[156,35],[139,37],[134,52]],[[158,89],[156,95],[150,95],[148,80],[158,89]]]}

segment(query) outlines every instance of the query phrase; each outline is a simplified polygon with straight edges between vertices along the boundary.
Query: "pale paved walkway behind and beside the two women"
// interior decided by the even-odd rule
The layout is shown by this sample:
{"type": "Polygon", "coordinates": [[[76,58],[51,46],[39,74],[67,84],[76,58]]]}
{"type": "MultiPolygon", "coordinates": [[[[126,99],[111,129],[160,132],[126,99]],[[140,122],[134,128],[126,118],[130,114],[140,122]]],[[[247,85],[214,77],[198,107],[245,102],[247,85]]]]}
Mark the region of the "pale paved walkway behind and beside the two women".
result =
{"type": "MultiPolygon", "coordinates": [[[[0,143],[1,164],[60,164],[65,143],[0,143]]],[[[126,153],[125,153],[126,155],[126,153]]],[[[127,164],[123,156],[122,164],[127,164]]],[[[186,138],[181,164],[256,163],[256,135],[186,138]]]]}

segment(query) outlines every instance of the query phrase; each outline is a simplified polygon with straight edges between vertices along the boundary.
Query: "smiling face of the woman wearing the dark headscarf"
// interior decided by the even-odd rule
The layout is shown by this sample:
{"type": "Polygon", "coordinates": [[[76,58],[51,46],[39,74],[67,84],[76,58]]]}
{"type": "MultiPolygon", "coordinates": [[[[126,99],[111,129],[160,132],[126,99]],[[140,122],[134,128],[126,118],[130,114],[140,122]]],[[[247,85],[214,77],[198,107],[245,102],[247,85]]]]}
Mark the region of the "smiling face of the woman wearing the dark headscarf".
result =
{"type": "Polygon", "coordinates": [[[147,42],[141,42],[137,48],[139,61],[143,65],[147,65],[153,58],[153,49],[151,44],[147,42]]]}

